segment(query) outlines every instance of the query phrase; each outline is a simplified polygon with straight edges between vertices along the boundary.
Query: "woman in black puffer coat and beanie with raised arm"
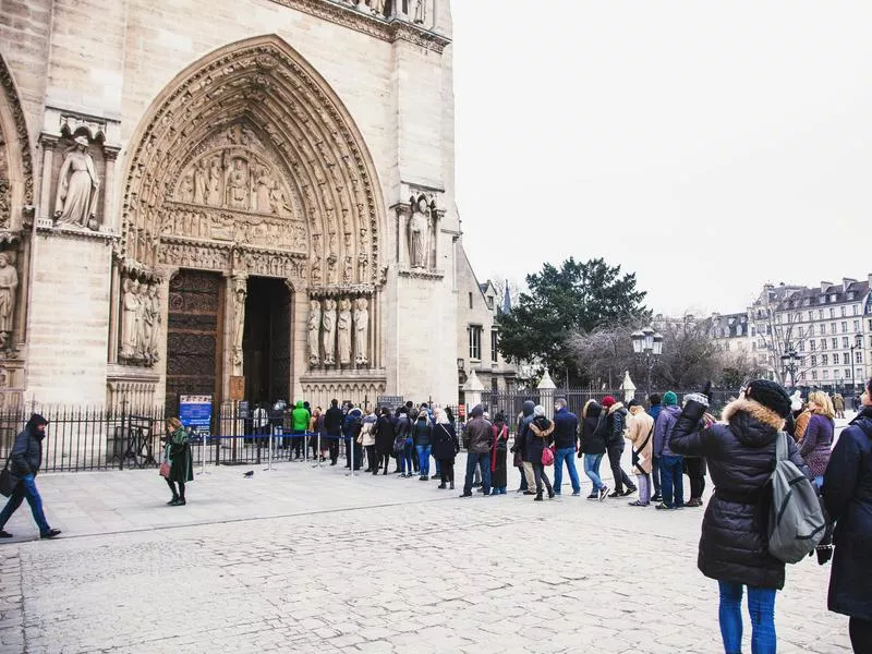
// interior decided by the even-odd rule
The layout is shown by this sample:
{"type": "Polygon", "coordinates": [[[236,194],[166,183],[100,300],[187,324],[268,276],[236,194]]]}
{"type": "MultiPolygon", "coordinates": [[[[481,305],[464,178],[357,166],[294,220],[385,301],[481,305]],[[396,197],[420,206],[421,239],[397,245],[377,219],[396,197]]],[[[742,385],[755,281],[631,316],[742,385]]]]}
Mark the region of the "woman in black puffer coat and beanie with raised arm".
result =
{"type": "MultiPolygon", "coordinates": [[[[775,470],[775,445],[790,415],[790,396],[774,382],[751,382],[724,409],[726,424],[699,431],[707,408],[690,395],[678,417],[669,448],[677,455],[705,457],[715,494],[705,510],[698,567],[720,586],[720,635],[727,654],[741,652],[741,598],[748,609],[755,654],[775,653],[775,591],[784,588],[784,564],[770,555],[766,486],[775,470]]],[[[790,460],[811,479],[792,439],[790,460]]]]}

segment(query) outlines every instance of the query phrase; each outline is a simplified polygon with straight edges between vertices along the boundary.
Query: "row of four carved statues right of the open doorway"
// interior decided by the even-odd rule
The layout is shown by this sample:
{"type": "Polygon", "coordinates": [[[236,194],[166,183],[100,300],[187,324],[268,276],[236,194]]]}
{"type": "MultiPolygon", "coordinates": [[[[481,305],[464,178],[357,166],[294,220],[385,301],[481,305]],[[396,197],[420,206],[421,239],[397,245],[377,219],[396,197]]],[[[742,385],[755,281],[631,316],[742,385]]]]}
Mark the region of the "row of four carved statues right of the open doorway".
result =
{"type": "Polygon", "coordinates": [[[367,365],[370,301],[366,298],[332,298],[308,303],[308,364],[367,365]],[[353,338],[352,338],[353,335],[353,338]],[[353,346],[353,350],[352,350],[353,346]]]}

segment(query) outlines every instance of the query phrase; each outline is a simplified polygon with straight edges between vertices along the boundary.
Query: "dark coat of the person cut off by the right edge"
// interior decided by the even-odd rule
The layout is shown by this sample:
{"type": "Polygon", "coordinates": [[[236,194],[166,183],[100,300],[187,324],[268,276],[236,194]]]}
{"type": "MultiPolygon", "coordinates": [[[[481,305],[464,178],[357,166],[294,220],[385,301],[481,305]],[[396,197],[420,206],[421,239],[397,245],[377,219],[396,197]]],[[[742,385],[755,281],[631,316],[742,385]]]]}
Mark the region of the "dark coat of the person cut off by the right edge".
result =
{"type": "Polygon", "coordinates": [[[824,475],[824,504],[836,521],[829,610],[872,620],[872,408],[841,432],[824,475]]]}

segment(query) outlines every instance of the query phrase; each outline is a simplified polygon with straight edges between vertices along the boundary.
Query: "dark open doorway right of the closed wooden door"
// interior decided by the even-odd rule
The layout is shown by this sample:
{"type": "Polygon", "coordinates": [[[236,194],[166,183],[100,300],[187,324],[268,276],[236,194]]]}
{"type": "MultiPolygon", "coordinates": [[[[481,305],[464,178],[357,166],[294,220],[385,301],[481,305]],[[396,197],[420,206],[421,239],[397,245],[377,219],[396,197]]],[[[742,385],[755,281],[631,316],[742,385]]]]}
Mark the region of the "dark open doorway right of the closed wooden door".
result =
{"type": "Polygon", "coordinates": [[[245,399],[290,402],[291,294],[281,279],[249,277],[242,337],[245,399]]]}

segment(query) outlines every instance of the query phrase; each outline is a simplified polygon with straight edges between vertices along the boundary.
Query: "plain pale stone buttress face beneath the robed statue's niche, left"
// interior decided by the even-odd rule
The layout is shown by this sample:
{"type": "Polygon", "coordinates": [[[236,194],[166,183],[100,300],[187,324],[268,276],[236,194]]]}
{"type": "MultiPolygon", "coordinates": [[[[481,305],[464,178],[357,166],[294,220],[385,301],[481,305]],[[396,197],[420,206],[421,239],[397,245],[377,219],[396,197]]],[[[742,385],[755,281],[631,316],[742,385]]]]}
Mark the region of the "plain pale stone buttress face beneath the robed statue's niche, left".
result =
{"type": "Polygon", "coordinates": [[[112,237],[50,223],[38,228],[25,397],[44,404],[102,405],[112,237]]]}

